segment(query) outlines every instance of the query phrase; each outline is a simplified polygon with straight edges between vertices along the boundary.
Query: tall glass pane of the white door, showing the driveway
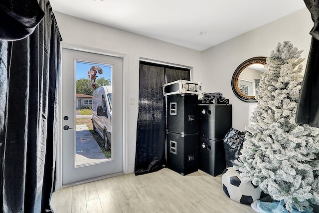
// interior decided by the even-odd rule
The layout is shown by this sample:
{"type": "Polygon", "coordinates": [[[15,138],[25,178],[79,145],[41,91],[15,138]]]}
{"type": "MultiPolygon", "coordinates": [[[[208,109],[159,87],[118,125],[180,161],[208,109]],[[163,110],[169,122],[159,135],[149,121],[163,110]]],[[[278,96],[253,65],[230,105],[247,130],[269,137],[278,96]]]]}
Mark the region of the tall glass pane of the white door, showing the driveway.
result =
{"type": "Polygon", "coordinates": [[[75,166],[112,160],[112,65],[75,61],[75,166]]]}

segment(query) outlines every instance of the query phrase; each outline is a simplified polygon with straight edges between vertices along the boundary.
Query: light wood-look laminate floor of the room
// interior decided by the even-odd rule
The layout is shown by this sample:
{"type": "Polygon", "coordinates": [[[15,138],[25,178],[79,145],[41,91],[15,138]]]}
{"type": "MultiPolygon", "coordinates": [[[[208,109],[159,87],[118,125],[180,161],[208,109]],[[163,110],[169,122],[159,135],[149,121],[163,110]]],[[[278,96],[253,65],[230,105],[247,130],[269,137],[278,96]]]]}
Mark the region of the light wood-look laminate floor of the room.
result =
{"type": "Polygon", "coordinates": [[[64,188],[53,193],[51,207],[54,213],[255,213],[225,195],[221,175],[169,169],[64,188]]]}

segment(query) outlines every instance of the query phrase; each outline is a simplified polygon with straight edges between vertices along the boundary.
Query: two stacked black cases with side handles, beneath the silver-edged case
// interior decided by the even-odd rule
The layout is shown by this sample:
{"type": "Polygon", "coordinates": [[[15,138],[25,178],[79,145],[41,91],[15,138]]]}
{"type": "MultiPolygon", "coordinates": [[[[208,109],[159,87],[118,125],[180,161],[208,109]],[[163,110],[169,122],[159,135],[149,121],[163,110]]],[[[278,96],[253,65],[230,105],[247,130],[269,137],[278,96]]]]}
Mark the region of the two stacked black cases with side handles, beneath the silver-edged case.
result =
{"type": "Polygon", "coordinates": [[[187,175],[198,170],[198,95],[166,97],[166,166],[187,175]]]}

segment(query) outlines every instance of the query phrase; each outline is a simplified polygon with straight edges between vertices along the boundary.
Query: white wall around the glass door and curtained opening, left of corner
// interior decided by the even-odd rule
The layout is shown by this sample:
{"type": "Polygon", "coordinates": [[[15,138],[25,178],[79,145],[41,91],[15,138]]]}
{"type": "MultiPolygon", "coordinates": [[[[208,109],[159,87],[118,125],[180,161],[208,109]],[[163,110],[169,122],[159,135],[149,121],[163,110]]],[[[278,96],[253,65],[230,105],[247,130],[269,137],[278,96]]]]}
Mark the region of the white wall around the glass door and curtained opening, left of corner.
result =
{"type": "MultiPolygon", "coordinates": [[[[94,23],[84,19],[54,12],[64,44],[80,45],[126,54],[126,139],[128,155],[127,173],[134,172],[136,127],[139,99],[140,57],[192,67],[192,80],[199,81],[200,52],[157,39],[94,23]],[[135,98],[136,104],[130,105],[135,98]]],[[[62,70],[63,71],[63,70],[62,70]]],[[[127,169],[127,170],[126,170],[127,169]]]]}

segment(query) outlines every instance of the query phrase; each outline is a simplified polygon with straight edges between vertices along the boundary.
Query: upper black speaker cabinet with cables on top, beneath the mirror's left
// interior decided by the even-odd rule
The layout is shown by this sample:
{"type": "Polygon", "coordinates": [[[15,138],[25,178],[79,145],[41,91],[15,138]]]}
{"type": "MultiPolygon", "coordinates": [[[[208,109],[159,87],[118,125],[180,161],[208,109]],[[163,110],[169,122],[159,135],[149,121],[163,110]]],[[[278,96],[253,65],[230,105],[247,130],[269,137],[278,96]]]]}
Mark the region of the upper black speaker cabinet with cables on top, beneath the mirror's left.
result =
{"type": "Polygon", "coordinates": [[[231,128],[231,104],[198,105],[199,137],[210,140],[223,139],[231,128]]]}

